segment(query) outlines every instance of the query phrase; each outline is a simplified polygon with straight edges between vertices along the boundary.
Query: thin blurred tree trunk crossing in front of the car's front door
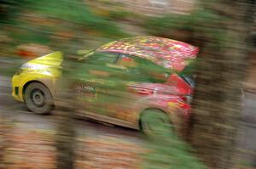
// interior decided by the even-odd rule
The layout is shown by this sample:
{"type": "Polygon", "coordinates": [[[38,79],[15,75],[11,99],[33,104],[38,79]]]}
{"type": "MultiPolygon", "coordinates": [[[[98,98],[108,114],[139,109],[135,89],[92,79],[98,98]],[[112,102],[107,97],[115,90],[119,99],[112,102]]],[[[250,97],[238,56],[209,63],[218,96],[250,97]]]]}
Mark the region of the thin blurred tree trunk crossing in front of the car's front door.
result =
{"type": "MultiPolygon", "coordinates": [[[[71,28],[70,28],[71,29],[71,28]]],[[[77,42],[79,42],[77,40],[77,42]]],[[[75,161],[75,138],[74,110],[75,95],[73,93],[73,62],[69,59],[73,54],[73,43],[69,40],[67,43],[57,44],[57,48],[63,51],[63,63],[61,64],[62,76],[57,82],[59,88],[56,97],[56,135],[55,144],[57,149],[57,169],[73,169],[75,161]]]]}

